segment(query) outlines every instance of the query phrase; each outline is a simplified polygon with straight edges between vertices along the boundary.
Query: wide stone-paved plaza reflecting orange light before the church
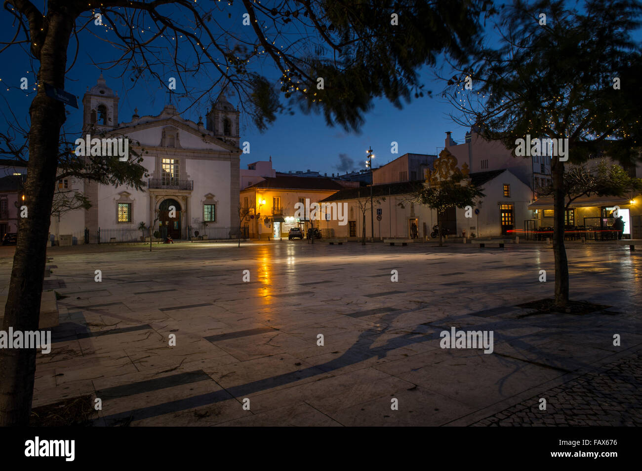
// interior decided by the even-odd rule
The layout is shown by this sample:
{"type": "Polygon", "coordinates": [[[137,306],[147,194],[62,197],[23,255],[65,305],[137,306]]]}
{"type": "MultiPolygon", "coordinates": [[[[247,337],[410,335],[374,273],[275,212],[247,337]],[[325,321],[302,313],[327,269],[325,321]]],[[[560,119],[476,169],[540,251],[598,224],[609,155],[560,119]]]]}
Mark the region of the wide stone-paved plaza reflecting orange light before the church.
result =
{"type": "Polygon", "coordinates": [[[64,297],[33,407],[92,395],[97,426],[639,425],[642,252],[568,257],[571,299],[612,307],[516,307],[553,295],[544,245],[51,247],[44,288],[64,297]],[[492,331],[492,353],[441,348],[452,327],[492,331]]]}

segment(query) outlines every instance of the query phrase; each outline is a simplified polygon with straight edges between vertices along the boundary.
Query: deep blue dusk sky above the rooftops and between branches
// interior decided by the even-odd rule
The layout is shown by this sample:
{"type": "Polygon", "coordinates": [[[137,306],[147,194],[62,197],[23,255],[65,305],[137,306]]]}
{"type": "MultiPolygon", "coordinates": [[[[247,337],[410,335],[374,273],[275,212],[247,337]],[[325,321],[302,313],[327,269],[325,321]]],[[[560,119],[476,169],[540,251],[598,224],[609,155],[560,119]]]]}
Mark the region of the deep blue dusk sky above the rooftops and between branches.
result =
{"type": "MultiPolygon", "coordinates": [[[[219,3],[220,4],[220,3],[219,3]]],[[[241,6],[227,4],[221,8],[221,17],[228,22],[221,20],[223,26],[239,29],[241,20],[241,6]],[[227,13],[232,19],[227,20],[227,13]]],[[[87,17],[89,20],[89,17],[87,17]]],[[[13,37],[15,27],[13,17],[8,12],[0,13],[0,28],[5,33],[3,41],[13,37]]],[[[246,30],[247,31],[247,30],[246,30]]],[[[269,29],[266,29],[269,31],[269,29]]],[[[240,34],[240,33],[239,33],[240,34]]],[[[78,97],[80,101],[87,87],[92,87],[100,74],[96,63],[107,63],[115,60],[120,52],[104,40],[117,40],[114,32],[105,26],[93,26],[91,24],[79,35],[80,52],[76,63],[67,73],[65,90],[78,97]],[[91,29],[91,30],[89,30],[91,29]]],[[[29,105],[33,97],[33,70],[37,63],[30,61],[28,54],[21,46],[12,46],[3,53],[3,67],[0,72],[0,126],[6,129],[4,120],[13,120],[11,112],[16,119],[24,126],[28,117],[29,105]],[[9,65],[10,64],[10,65],[9,65]],[[20,90],[20,80],[27,77],[30,84],[30,94],[20,90]],[[7,90],[9,88],[9,90],[7,90]]],[[[75,53],[74,42],[71,42],[68,51],[68,66],[71,65],[75,53]]],[[[107,65],[105,65],[107,67],[107,65]]],[[[270,78],[276,78],[278,74],[272,70],[263,70],[261,67],[270,67],[268,62],[263,65],[256,64],[256,70],[266,72],[270,78]]],[[[119,122],[128,122],[134,114],[134,108],[138,108],[139,115],[157,115],[164,104],[168,103],[167,88],[163,87],[155,78],[147,78],[146,81],[139,81],[134,88],[130,81],[130,72],[125,72],[121,77],[122,69],[116,67],[103,72],[107,85],[114,89],[120,97],[119,101],[119,122]]],[[[171,70],[165,70],[160,74],[163,78],[173,76],[171,70]]],[[[446,75],[448,75],[446,73],[446,75]]],[[[403,155],[404,153],[427,153],[435,154],[444,146],[445,131],[453,131],[453,138],[462,142],[467,128],[458,126],[449,117],[453,112],[450,104],[439,97],[439,92],[444,87],[443,83],[435,78],[435,69],[426,67],[421,71],[424,79],[425,90],[431,90],[433,97],[420,97],[413,99],[410,104],[405,104],[402,110],[395,108],[392,104],[383,99],[374,102],[374,108],[365,115],[365,124],[360,133],[346,133],[340,126],[328,127],[321,115],[305,115],[295,108],[295,115],[281,114],[277,120],[265,131],[259,133],[252,122],[241,114],[241,142],[250,142],[251,153],[242,154],[241,168],[247,163],[257,160],[268,160],[272,156],[273,167],[279,171],[288,170],[318,170],[327,172],[345,172],[349,169],[363,169],[365,164],[366,149],[372,146],[376,154],[375,167],[383,165],[388,161],[403,155]],[[390,152],[390,142],[399,143],[399,153],[390,152]],[[340,154],[351,159],[353,165],[340,165],[340,154]]],[[[193,79],[194,83],[189,87],[206,88],[203,83],[193,79]]],[[[206,76],[199,78],[206,83],[209,79],[206,76]]],[[[276,82],[276,80],[275,80],[276,82]]],[[[184,93],[178,85],[177,92],[184,93]]],[[[177,108],[179,112],[185,110],[193,103],[195,95],[178,98],[177,108]]],[[[230,97],[229,101],[235,106],[238,98],[230,97]]],[[[199,115],[205,115],[209,106],[209,100],[204,98],[195,106],[189,108],[182,117],[198,121],[199,115]]],[[[76,110],[67,106],[70,113],[67,116],[65,130],[76,135],[80,131],[82,123],[82,110],[76,110]]],[[[205,121],[205,119],[204,119],[205,121]]]]}

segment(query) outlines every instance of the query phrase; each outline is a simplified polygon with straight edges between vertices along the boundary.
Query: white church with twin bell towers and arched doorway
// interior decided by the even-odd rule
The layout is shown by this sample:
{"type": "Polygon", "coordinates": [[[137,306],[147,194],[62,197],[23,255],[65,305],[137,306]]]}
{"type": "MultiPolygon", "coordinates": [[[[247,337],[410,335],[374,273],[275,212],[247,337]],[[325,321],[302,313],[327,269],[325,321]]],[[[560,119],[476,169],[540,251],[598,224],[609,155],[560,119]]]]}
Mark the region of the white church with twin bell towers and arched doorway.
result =
{"type": "MultiPolygon", "coordinates": [[[[239,112],[221,94],[206,115],[205,126],[183,119],[168,104],[159,115],[119,122],[118,99],[101,75],[85,93],[83,138],[91,128],[108,136],[126,137],[129,148],[143,157],[149,178],[142,191],[87,180],[60,179],[60,190],[78,190],[91,202],[51,218],[50,238],[62,245],[83,242],[144,240],[154,231],[186,239],[188,227],[229,235],[238,229],[239,112]],[[141,151],[144,149],[144,151],[141,151]],[[173,211],[170,211],[173,206],[173,211]]],[[[94,131],[94,132],[96,132],[94,131]]]]}

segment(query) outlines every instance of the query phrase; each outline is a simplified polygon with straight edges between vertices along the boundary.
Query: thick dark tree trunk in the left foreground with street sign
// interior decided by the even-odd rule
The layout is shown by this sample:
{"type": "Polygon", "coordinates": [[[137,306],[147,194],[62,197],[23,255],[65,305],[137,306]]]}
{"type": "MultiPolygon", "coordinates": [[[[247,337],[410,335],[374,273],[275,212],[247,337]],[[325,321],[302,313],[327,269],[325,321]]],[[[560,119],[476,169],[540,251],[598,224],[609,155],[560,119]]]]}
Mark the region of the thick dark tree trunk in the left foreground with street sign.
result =
{"type": "MultiPolygon", "coordinates": [[[[67,45],[74,15],[60,8],[49,18],[40,51],[38,94],[31,102],[29,163],[24,188],[28,215],[19,219],[19,231],[3,330],[36,331],[46,264],[47,235],[58,165],[60,127],[65,106],[45,94],[44,83],[64,88],[67,45]]],[[[32,38],[33,40],[33,38],[32,38]]],[[[0,426],[26,426],[31,414],[35,349],[0,349],[0,426]]]]}

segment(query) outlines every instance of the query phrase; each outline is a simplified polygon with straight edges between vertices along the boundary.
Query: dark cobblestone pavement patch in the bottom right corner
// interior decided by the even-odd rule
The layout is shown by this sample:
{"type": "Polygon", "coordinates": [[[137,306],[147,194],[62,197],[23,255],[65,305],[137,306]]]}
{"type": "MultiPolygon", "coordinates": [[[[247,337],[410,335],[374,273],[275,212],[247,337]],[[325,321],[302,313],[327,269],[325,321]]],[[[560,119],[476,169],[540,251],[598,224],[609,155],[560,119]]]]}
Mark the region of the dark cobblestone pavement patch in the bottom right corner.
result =
{"type": "Polygon", "coordinates": [[[642,426],[638,351],[498,412],[473,427],[642,426]],[[539,401],[546,399],[546,410],[539,401]]]}

